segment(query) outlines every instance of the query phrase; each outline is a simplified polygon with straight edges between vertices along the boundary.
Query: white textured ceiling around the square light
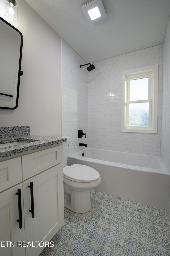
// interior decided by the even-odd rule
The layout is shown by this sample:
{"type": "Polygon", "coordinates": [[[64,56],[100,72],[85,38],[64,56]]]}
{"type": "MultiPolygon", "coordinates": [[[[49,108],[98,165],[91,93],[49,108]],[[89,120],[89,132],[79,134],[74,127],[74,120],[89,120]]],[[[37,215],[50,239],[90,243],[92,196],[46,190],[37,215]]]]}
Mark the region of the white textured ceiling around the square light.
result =
{"type": "Polygon", "coordinates": [[[107,17],[88,23],[91,0],[26,0],[87,63],[163,43],[170,0],[102,0],[107,17]]]}

